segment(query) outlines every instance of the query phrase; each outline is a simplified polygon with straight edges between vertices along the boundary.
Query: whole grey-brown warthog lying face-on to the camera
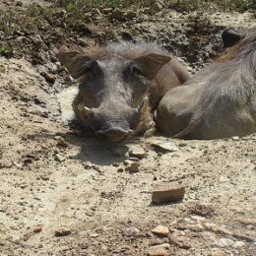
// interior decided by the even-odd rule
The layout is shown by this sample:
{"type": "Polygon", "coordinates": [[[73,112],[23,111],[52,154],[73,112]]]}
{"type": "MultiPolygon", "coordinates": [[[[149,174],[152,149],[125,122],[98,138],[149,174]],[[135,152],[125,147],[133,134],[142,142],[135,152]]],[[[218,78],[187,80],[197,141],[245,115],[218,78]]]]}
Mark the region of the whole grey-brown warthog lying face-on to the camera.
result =
{"type": "Polygon", "coordinates": [[[156,43],[116,43],[57,57],[80,82],[72,105],[76,117],[115,142],[152,133],[152,113],[161,97],[189,78],[186,69],[156,43]]]}

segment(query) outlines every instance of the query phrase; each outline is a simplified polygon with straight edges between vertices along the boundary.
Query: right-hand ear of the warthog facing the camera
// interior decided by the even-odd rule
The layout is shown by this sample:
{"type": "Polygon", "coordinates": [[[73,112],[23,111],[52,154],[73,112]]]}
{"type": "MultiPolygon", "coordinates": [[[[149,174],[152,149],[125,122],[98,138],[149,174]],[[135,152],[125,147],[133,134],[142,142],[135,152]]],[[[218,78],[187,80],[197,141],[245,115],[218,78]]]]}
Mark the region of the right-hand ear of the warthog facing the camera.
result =
{"type": "Polygon", "coordinates": [[[155,78],[160,68],[169,62],[170,56],[150,53],[134,59],[134,61],[141,67],[142,75],[149,80],[155,78]]]}

